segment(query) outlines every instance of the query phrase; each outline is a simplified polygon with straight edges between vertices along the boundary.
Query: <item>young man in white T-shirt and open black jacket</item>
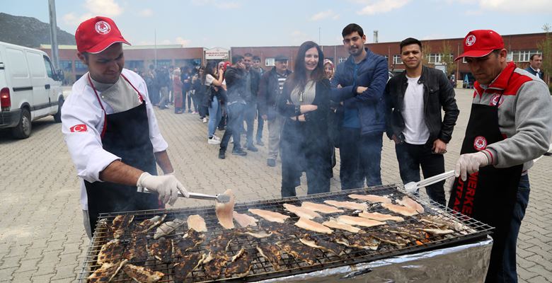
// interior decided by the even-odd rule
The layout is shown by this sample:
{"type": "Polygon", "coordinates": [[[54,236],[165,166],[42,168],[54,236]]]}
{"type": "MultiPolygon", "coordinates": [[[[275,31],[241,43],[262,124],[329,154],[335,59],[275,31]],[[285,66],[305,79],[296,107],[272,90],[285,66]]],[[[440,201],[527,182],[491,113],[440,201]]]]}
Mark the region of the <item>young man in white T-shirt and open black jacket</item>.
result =
{"type": "MultiPolygon", "coordinates": [[[[444,156],[459,110],[454,88],[442,71],[422,65],[422,43],[415,38],[401,42],[406,67],[387,83],[387,136],[395,141],[403,183],[444,173],[444,156]],[[444,110],[444,119],[441,117],[444,110]],[[392,112],[392,114],[391,114],[392,112]]],[[[431,200],[445,205],[444,180],[425,188],[431,200]]]]}

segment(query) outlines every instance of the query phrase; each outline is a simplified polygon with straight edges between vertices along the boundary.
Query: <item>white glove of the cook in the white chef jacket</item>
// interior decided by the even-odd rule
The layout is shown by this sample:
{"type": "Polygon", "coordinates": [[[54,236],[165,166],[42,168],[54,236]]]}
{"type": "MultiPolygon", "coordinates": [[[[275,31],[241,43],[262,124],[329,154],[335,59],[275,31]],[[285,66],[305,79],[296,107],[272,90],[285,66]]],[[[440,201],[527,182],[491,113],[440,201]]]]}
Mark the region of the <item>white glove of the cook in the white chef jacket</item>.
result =
{"type": "Polygon", "coordinates": [[[137,187],[145,187],[148,190],[157,192],[159,200],[163,204],[168,202],[168,204],[173,205],[178,200],[178,191],[185,197],[190,196],[184,185],[174,175],[154,176],[144,172],[138,178],[136,185],[137,187]]]}

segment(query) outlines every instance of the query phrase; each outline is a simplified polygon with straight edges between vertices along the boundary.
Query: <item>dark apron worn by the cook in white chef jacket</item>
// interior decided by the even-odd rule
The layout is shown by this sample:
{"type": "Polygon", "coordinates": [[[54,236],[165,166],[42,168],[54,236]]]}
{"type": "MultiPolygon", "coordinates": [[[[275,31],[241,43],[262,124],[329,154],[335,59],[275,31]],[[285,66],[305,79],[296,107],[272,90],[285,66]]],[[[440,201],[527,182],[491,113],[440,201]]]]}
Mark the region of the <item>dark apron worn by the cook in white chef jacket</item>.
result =
{"type": "MultiPolygon", "coordinates": [[[[121,76],[130,83],[125,76],[122,74],[121,76]]],[[[103,109],[90,77],[88,77],[88,81],[103,109]]],[[[103,149],[119,156],[122,163],[128,166],[138,168],[151,175],[157,175],[154,146],[149,139],[146,101],[136,88],[134,90],[142,100],[141,105],[110,115],[105,115],[105,109],[103,109],[105,117],[101,135],[103,149]]],[[[133,185],[110,182],[90,183],[86,180],[84,185],[88,196],[88,217],[92,233],[94,233],[100,213],[159,209],[161,207],[157,194],[137,192],[137,187],[133,185]]]]}

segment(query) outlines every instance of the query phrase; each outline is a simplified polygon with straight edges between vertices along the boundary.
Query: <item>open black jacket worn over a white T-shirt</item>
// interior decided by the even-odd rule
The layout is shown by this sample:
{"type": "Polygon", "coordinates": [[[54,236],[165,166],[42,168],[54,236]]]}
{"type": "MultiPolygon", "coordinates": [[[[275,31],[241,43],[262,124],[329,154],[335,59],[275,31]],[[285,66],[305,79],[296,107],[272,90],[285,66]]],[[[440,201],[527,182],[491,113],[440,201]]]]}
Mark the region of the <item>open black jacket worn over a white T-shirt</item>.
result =
{"type": "MultiPolygon", "coordinates": [[[[454,99],[454,88],[442,71],[425,66],[422,67],[422,75],[418,83],[424,85],[425,125],[430,131],[427,144],[432,144],[435,139],[441,139],[448,143],[452,138],[452,130],[460,113],[456,106],[456,99],[454,99]],[[444,118],[441,116],[441,109],[444,110],[444,118]]],[[[393,76],[385,88],[386,132],[389,139],[395,134],[400,141],[404,141],[405,124],[401,110],[407,86],[406,71],[403,71],[401,74],[393,76]]]]}

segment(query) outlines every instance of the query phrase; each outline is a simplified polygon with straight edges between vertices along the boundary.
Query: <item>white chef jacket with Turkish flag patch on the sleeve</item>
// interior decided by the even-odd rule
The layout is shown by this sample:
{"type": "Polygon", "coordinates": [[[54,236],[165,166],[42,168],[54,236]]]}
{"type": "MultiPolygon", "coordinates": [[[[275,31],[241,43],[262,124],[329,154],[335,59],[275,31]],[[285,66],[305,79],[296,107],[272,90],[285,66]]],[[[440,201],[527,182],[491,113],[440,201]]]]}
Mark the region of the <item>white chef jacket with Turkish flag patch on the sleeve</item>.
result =
{"type": "MultiPolygon", "coordinates": [[[[154,147],[154,152],[165,151],[168,144],[159,132],[154,108],[149,100],[146,82],[129,69],[122,69],[122,74],[127,77],[132,86],[137,88],[142,94],[142,98],[146,100],[149,139],[154,147]]],[[[98,96],[101,100],[100,91],[98,91],[98,96]]],[[[139,99],[139,97],[136,96],[136,99],[139,99]]],[[[104,100],[102,100],[102,105],[106,115],[114,113],[113,108],[104,100]]],[[[91,183],[101,182],[100,172],[113,161],[121,160],[119,156],[105,151],[102,147],[101,132],[104,122],[103,110],[98,98],[96,98],[96,93],[88,83],[88,73],[86,73],[73,84],[71,95],[65,100],[62,108],[62,132],[71,159],[75,164],[76,174],[81,178],[81,206],[84,210],[88,210],[84,180],[91,183]],[[71,127],[75,125],[86,125],[86,132],[71,132],[71,127]]]]}

